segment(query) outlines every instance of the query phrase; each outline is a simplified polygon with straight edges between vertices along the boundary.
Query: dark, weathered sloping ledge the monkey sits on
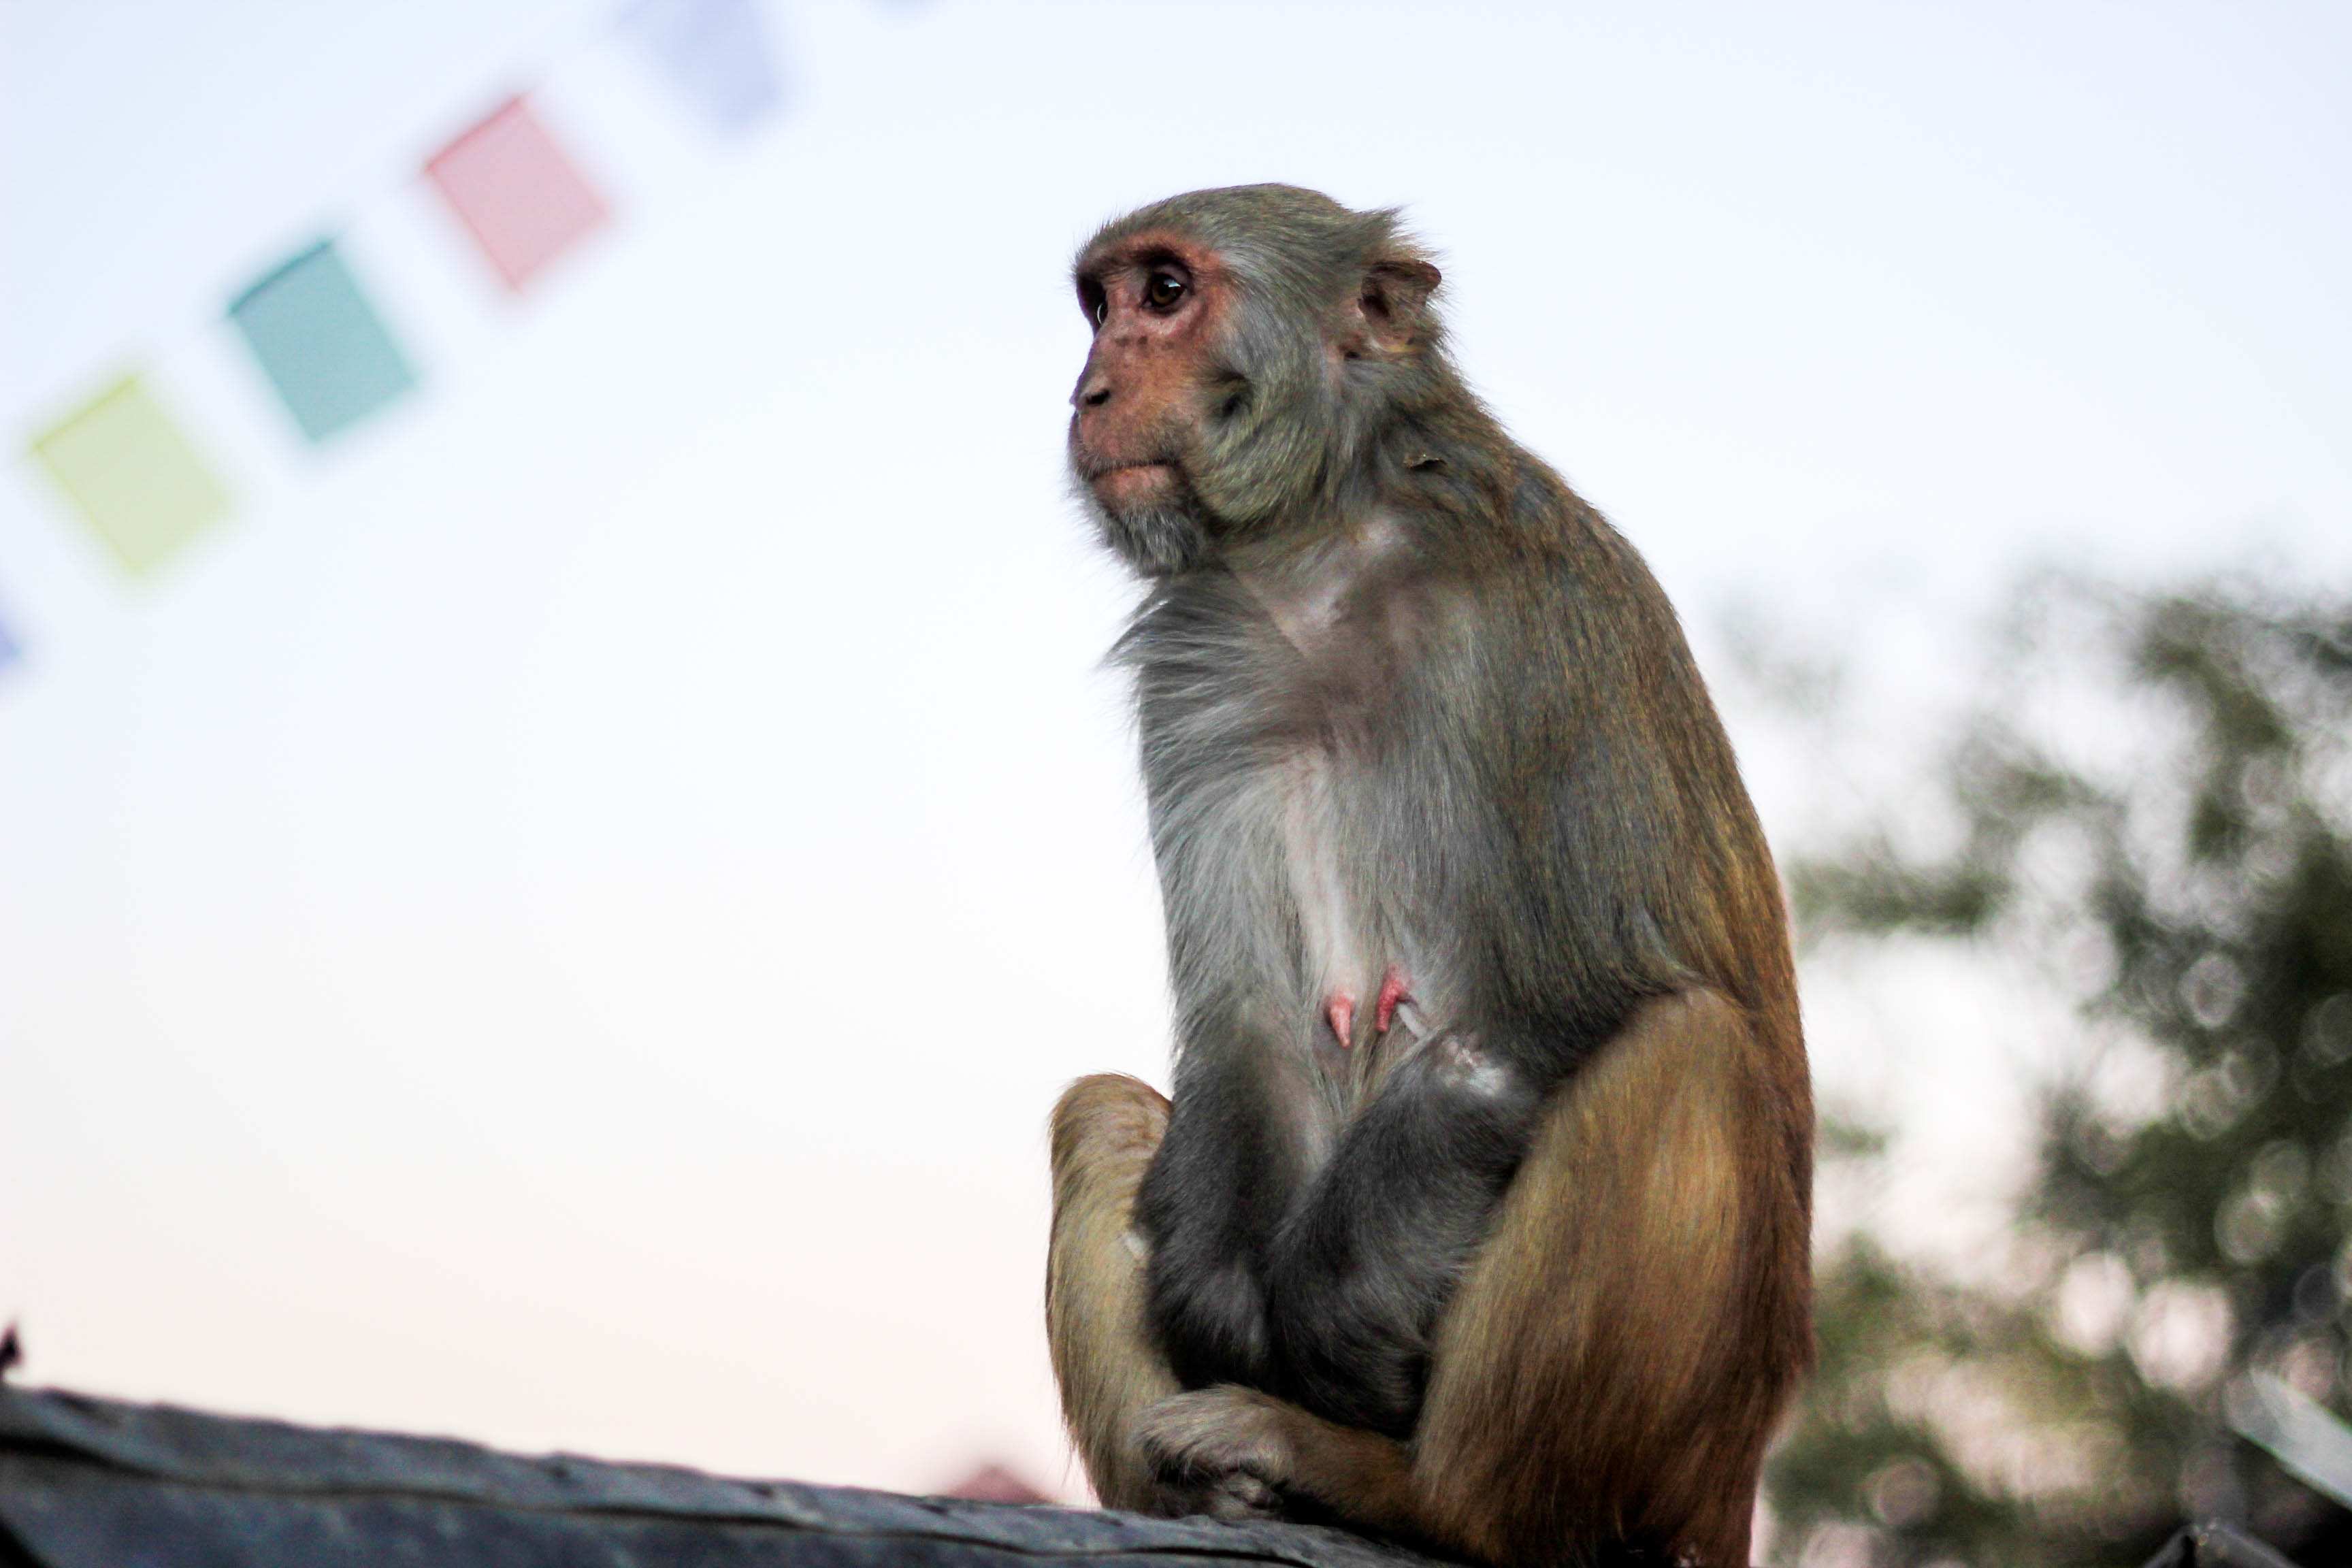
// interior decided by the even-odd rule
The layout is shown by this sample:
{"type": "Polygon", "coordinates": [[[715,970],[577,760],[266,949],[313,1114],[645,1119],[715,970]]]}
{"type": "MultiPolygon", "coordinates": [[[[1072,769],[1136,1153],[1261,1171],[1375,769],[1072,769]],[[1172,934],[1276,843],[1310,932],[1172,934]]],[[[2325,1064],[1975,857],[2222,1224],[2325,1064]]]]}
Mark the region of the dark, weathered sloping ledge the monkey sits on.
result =
{"type": "Polygon", "coordinates": [[[1425,1568],[1343,1530],[729,1481],[0,1387],[0,1568],[1425,1568]]]}

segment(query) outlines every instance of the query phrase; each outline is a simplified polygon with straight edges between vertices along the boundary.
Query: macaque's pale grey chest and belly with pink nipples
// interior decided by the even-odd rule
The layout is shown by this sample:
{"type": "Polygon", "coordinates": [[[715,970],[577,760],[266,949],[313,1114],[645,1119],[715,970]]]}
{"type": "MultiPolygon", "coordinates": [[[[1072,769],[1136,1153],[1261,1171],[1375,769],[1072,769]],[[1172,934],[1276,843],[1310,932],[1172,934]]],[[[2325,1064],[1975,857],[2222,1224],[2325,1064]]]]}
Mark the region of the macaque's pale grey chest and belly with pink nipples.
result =
{"type": "Polygon", "coordinates": [[[1359,1100],[1442,1006],[1444,849],[1414,745],[1409,595],[1214,578],[1136,639],[1181,997],[1242,1001],[1359,1100]],[[1265,1018],[1263,1009],[1279,1018],[1265,1018]]]}

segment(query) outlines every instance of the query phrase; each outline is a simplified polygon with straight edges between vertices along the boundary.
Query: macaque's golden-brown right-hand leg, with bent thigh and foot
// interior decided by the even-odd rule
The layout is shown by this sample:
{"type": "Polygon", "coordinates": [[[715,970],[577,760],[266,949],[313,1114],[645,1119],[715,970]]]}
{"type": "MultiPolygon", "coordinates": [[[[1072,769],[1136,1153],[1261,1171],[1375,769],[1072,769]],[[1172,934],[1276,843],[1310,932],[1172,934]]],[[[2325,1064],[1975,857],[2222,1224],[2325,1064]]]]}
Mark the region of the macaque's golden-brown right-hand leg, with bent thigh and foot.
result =
{"type": "Polygon", "coordinates": [[[1228,1385],[1152,1406],[1141,1450],[1176,1483],[1244,1472],[1489,1563],[1625,1540],[1745,1566],[1764,1439],[1809,1354],[1795,1072],[1712,992],[1646,1004],[1545,1105],[1439,1321],[1411,1443],[1228,1385]]]}

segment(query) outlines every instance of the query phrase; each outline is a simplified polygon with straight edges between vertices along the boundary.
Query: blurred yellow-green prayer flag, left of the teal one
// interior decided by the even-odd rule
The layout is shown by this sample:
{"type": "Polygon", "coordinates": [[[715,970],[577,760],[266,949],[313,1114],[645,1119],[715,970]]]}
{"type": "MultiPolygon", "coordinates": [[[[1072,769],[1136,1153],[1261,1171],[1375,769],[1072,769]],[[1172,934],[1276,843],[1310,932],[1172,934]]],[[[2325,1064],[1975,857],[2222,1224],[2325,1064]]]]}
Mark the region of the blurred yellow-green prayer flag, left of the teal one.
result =
{"type": "Polygon", "coordinates": [[[228,512],[228,491],[139,376],[35,437],[33,456],[134,574],[228,512]]]}

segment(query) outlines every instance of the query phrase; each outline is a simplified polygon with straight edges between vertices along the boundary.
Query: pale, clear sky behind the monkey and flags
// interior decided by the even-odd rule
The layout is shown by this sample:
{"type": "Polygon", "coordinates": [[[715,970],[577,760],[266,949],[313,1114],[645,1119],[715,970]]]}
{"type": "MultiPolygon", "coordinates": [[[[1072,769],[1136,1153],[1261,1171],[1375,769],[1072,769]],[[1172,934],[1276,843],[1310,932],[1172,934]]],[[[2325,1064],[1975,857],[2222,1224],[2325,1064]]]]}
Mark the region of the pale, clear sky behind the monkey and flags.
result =
{"type": "Polygon", "coordinates": [[[1075,1493],[1042,1121],[1167,1051],[1061,480],[1136,202],[1404,205],[1705,663],[1736,602],[1931,682],[1900,630],[2034,562],[2352,571],[2338,5],[779,2],[741,143],[609,14],[0,12],[35,1382],[1075,1493]],[[517,87],[616,223],[510,301],[414,169],[517,87]],[[423,388],[308,449],[221,308],[325,233],[423,388]],[[139,583],[21,456],[127,367],[238,496],[139,583]]]}

